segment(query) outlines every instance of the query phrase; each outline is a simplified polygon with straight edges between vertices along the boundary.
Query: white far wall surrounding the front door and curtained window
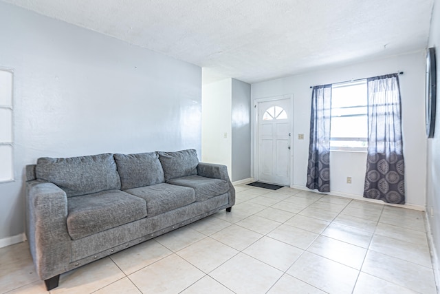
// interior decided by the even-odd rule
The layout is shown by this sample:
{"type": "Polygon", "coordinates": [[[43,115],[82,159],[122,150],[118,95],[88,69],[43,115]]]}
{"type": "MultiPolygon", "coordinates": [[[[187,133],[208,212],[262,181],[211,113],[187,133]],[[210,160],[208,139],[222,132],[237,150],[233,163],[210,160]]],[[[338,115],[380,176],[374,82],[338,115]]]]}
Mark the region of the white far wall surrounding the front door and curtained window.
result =
{"type": "MultiPolygon", "coordinates": [[[[401,90],[402,130],[405,156],[406,202],[418,209],[426,204],[426,136],[424,116],[424,52],[414,52],[387,59],[372,60],[346,67],[279,78],[252,84],[252,101],[256,98],[294,94],[294,127],[292,167],[294,186],[305,187],[309,148],[311,85],[324,85],[351,79],[380,76],[403,71],[399,76],[401,90]],[[299,140],[304,134],[305,140],[299,140]]],[[[254,121],[254,118],[251,120],[254,121]]],[[[253,138],[252,138],[253,140],[253,138]]],[[[366,154],[331,152],[331,191],[362,199],[366,154]],[[352,183],[347,184],[347,176],[352,183]]]]}

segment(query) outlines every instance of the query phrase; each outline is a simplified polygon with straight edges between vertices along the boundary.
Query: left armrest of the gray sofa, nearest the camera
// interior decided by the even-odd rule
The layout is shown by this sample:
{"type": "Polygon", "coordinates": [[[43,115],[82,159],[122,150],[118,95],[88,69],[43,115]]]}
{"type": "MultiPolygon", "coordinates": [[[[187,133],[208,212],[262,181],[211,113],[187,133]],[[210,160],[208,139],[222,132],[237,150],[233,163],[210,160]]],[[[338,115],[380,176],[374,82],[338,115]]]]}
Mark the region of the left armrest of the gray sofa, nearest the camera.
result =
{"type": "Polygon", "coordinates": [[[50,182],[26,182],[26,231],[37,273],[47,280],[68,270],[67,196],[50,182]]]}

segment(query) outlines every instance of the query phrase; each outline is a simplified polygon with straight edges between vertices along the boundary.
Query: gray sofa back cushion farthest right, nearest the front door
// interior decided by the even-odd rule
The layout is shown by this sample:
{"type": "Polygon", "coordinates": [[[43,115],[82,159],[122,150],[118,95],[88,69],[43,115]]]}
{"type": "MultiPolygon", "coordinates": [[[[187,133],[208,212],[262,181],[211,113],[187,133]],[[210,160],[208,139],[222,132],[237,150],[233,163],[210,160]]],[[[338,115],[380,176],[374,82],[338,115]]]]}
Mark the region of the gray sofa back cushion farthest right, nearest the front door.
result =
{"type": "Polygon", "coordinates": [[[197,175],[199,159],[195,149],[175,152],[157,151],[157,154],[159,154],[159,160],[164,169],[165,180],[197,175]]]}

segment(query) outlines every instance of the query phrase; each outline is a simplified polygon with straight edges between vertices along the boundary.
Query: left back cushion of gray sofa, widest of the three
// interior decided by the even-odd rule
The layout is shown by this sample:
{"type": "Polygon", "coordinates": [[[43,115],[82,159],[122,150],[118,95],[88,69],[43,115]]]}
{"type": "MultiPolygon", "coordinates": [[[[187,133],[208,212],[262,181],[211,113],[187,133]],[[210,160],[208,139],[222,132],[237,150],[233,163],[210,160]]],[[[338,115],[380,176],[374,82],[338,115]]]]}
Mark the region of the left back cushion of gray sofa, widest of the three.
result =
{"type": "Polygon", "coordinates": [[[52,182],[63,189],[67,197],[121,188],[113,154],[43,157],[37,160],[35,173],[38,180],[52,182]]]}

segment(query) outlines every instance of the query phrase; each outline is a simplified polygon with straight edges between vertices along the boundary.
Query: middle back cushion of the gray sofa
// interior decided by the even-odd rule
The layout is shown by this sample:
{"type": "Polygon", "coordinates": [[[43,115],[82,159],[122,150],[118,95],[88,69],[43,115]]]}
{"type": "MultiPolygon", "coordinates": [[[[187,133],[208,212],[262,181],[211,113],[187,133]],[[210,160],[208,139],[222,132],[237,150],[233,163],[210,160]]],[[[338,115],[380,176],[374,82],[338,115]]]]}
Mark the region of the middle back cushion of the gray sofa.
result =
{"type": "Polygon", "coordinates": [[[121,189],[133,189],[165,182],[164,170],[155,152],[115,154],[121,189]]]}

